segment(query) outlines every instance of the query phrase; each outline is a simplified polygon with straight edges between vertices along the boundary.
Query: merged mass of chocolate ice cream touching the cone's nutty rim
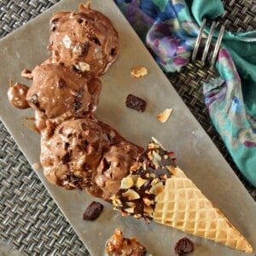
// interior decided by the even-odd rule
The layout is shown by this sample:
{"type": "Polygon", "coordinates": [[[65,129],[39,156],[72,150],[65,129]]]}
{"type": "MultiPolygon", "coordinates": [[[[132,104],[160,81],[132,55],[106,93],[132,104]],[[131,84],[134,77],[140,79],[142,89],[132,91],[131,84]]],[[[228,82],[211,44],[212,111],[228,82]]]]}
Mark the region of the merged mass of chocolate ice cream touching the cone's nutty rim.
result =
{"type": "Polygon", "coordinates": [[[143,148],[96,119],[70,119],[41,139],[45,177],[65,189],[86,188],[110,201],[143,148]]]}

